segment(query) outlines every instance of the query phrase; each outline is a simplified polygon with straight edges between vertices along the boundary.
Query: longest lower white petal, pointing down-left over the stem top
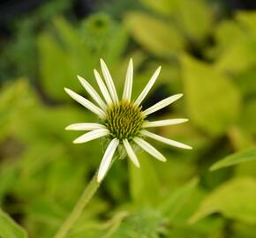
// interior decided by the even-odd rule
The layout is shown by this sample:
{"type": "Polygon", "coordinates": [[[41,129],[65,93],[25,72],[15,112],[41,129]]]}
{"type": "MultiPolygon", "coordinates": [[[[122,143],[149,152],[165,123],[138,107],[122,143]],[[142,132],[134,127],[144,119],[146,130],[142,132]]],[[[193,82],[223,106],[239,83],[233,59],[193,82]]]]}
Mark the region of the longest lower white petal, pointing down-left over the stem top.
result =
{"type": "Polygon", "coordinates": [[[102,158],[102,162],[99,168],[98,177],[97,177],[98,182],[102,182],[102,179],[106,175],[118,145],[119,145],[119,140],[117,138],[114,138],[109,143],[109,146],[106,152],[104,153],[104,156],[102,158]]]}

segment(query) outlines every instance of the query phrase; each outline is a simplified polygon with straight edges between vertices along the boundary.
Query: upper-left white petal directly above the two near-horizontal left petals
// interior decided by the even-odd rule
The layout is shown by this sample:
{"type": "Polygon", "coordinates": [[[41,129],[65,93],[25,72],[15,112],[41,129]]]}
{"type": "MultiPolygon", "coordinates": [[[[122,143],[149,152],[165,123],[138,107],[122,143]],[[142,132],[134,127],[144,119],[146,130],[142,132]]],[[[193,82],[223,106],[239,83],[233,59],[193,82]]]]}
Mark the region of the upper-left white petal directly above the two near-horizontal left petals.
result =
{"type": "Polygon", "coordinates": [[[81,105],[92,111],[94,114],[99,115],[101,118],[105,118],[105,113],[101,108],[96,107],[92,102],[80,96],[78,93],[73,92],[69,88],[64,88],[64,90],[72,97],[73,100],[78,101],[81,105]]]}

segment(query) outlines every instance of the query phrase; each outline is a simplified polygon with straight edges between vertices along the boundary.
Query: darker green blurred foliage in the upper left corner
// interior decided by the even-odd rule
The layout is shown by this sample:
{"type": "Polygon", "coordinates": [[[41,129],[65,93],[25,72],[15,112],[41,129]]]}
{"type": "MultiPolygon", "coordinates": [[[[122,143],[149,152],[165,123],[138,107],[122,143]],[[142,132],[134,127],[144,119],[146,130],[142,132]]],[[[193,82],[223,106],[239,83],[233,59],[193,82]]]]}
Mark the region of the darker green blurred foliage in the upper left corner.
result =
{"type": "Polygon", "coordinates": [[[47,27],[58,14],[64,13],[72,5],[72,1],[55,0],[42,4],[35,11],[25,16],[13,18],[8,26],[14,38],[1,43],[0,83],[4,79],[19,78],[24,75],[30,79],[36,77],[38,57],[36,34],[41,26],[47,27]]]}

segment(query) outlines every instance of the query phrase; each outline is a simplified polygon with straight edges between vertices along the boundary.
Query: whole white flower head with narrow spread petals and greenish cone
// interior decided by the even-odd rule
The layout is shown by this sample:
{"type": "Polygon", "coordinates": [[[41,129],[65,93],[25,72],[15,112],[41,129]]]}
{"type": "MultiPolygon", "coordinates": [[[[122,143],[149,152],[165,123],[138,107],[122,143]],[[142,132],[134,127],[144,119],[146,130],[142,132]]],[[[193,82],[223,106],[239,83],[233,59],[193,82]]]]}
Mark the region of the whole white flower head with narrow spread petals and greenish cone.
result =
{"type": "Polygon", "coordinates": [[[87,82],[86,79],[78,76],[82,86],[86,89],[87,93],[94,99],[98,106],[94,105],[90,100],[85,99],[78,93],[74,93],[71,89],[64,88],[73,100],[78,101],[85,108],[92,111],[99,116],[99,123],[74,123],[67,126],[66,130],[88,130],[86,134],[76,138],[73,143],[86,143],[96,138],[109,138],[110,143],[104,152],[102,162],[98,171],[97,181],[102,182],[103,177],[106,175],[109,165],[117,151],[118,146],[125,149],[126,154],[132,160],[136,167],[139,167],[139,160],[134,152],[135,145],[139,145],[143,150],[151,154],[155,159],[166,161],[166,158],[161,152],[158,152],[153,145],[150,145],[144,138],[153,138],[161,141],[167,145],[176,146],[183,149],[192,149],[189,145],[163,138],[147,130],[151,127],[168,126],[179,123],[187,122],[187,119],[169,119],[162,121],[147,121],[147,116],[169,106],[172,102],[178,100],[183,94],[176,94],[154,104],[154,106],[142,110],[141,102],[147,96],[147,93],[154,85],[158,77],[161,67],[159,67],[150,78],[147,86],[139,94],[136,100],[132,98],[132,78],[133,78],[133,65],[132,59],[128,65],[124,82],[124,93],[122,99],[119,100],[117,90],[114,85],[113,79],[109,73],[106,63],[101,59],[101,68],[104,81],[98,71],[94,70],[94,76],[97,84],[102,92],[102,97],[94,90],[94,88],[87,82]]]}

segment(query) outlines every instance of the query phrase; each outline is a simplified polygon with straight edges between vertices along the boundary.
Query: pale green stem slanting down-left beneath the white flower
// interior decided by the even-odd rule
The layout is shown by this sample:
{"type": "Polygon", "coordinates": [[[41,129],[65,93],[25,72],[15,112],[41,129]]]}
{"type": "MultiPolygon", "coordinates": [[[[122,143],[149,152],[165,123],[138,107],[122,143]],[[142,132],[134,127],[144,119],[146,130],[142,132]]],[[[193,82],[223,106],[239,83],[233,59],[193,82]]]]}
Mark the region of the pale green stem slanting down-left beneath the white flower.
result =
{"type": "Polygon", "coordinates": [[[100,182],[97,182],[97,173],[95,173],[91,182],[88,184],[87,188],[84,190],[82,196],[79,198],[77,204],[74,206],[72,212],[69,214],[68,218],[65,219],[63,225],[59,228],[54,238],[64,238],[65,235],[70,231],[75,222],[79,219],[79,216],[83,212],[84,208],[87,206],[88,202],[94,196],[94,193],[100,186],[100,182]]]}

